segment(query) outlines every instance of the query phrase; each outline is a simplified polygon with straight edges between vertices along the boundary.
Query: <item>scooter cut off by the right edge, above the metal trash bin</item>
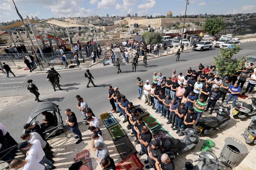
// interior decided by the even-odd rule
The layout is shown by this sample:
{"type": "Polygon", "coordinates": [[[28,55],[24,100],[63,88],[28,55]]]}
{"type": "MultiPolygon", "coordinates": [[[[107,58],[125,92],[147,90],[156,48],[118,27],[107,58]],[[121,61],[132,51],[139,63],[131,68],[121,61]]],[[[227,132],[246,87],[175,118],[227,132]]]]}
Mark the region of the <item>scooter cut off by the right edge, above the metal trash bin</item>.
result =
{"type": "Polygon", "coordinates": [[[245,132],[242,135],[245,138],[245,143],[254,143],[254,145],[256,145],[256,116],[251,118],[252,121],[250,125],[245,129],[245,132]]]}

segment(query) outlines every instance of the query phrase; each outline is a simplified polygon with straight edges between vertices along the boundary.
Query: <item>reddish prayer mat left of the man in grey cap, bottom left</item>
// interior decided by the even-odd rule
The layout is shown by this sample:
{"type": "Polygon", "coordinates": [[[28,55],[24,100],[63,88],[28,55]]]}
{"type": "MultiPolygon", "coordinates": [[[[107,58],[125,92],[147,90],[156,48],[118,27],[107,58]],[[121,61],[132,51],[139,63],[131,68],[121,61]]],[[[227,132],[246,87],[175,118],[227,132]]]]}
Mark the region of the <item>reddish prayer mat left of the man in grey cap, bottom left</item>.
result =
{"type": "Polygon", "coordinates": [[[85,149],[81,153],[76,154],[76,158],[74,158],[74,162],[82,161],[83,165],[79,168],[79,170],[92,170],[92,159],[90,156],[90,150],[85,149]]]}

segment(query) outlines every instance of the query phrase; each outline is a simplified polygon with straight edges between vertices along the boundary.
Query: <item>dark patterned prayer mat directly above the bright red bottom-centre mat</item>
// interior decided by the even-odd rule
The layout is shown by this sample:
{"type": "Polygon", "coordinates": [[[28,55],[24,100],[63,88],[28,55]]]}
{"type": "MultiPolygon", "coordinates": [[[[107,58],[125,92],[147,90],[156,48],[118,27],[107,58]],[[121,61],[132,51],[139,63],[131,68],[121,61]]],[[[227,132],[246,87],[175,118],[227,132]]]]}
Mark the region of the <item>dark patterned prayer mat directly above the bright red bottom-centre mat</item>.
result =
{"type": "Polygon", "coordinates": [[[122,160],[126,159],[134,153],[137,153],[127,135],[114,141],[114,144],[116,145],[116,149],[118,149],[118,153],[120,154],[122,160]]]}

